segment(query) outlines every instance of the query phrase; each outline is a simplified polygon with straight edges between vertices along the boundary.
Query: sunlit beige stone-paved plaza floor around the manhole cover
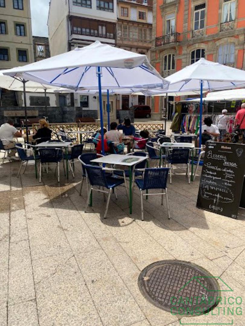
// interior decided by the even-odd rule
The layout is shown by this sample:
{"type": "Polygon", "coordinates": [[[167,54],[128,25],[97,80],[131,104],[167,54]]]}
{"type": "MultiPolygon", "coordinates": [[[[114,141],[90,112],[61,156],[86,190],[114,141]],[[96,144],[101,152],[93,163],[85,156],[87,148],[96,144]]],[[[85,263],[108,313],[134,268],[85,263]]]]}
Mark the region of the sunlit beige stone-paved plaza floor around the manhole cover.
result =
{"type": "Polygon", "coordinates": [[[184,171],[176,172],[168,186],[171,219],[165,201],[161,206],[160,196],[149,196],[141,221],[136,187],[132,215],[125,188],[119,187],[103,219],[100,193],[93,194],[93,207],[84,213],[87,191],[84,183],[79,196],[80,164],[69,182],[61,170],[60,184],[54,171],[44,173],[39,184],[34,166],[19,178],[18,168],[18,162],[0,164],[1,326],[216,325],[231,320],[234,326],[245,325],[244,310],[243,315],[218,314],[217,308],[207,316],[172,315],[149,303],[138,288],[145,266],[179,259],[220,276],[233,290],[226,297],[245,300],[245,211],[234,220],[197,209],[199,176],[188,185],[184,171]]]}

